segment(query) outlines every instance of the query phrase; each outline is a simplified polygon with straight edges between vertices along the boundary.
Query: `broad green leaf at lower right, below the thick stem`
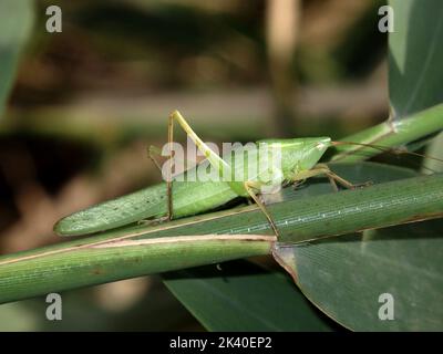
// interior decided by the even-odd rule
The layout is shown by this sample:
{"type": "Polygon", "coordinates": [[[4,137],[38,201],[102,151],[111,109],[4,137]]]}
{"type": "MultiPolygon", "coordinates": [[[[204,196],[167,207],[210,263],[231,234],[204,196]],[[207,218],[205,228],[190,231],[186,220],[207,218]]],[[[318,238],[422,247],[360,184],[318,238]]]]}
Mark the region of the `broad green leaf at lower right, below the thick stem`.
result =
{"type": "MultiPolygon", "coordinates": [[[[403,175],[374,168],[381,178],[403,175]]],[[[348,329],[443,330],[441,219],[291,247],[281,243],[276,254],[307,298],[348,329]],[[382,317],[387,313],[381,309],[387,300],[380,298],[385,293],[392,295],[394,320],[379,317],[379,311],[382,317]]]]}

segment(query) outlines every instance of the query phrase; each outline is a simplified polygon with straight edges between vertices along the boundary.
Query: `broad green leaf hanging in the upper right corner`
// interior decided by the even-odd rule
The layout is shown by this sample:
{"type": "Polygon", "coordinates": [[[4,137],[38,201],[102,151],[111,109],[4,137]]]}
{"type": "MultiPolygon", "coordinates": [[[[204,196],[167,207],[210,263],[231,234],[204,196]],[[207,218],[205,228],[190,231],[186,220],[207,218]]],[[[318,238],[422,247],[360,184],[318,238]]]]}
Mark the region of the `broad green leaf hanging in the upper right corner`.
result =
{"type": "Polygon", "coordinates": [[[443,2],[390,0],[389,92],[399,119],[443,102],[443,2]]]}

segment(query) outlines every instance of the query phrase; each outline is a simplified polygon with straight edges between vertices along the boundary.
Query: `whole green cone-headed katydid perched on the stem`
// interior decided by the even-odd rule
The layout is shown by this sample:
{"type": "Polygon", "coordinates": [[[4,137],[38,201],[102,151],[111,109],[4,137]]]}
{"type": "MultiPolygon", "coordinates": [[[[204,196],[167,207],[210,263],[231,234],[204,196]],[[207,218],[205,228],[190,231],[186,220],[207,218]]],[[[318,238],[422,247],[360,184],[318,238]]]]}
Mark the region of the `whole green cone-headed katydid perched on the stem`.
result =
{"type": "MultiPolygon", "coordinates": [[[[169,143],[173,142],[174,122],[177,122],[183,127],[206,157],[207,163],[218,170],[220,175],[231,176],[237,168],[245,167],[244,159],[223,159],[212,150],[195,134],[178,111],[174,111],[169,115],[169,143]],[[238,164],[241,166],[238,166],[238,164]]],[[[256,174],[254,176],[247,174],[247,177],[240,176],[239,179],[227,181],[193,181],[187,178],[189,174],[189,170],[187,170],[183,173],[183,181],[173,183],[168,180],[64,217],[55,223],[54,231],[61,236],[78,236],[110,230],[146,219],[171,220],[172,218],[202,214],[220,207],[235,198],[246,197],[257,204],[270,223],[271,229],[278,236],[278,229],[272,217],[260,200],[260,189],[287,183],[298,183],[318,175],[328,177],[336,190],[338,189],[337,184],[346,188],[354,188],[356,185],[334,174],[326,164],[319,164],[320,158],[329,147],[340,144],[348,143],[332,142],[330,137],[259,140],[256,145],[259,147],[265,145],[267,154],[277,149],[280,154],[279,166],[271,165],[270,168],[266,169],[265,174],[256,174]]],[[[169,162],[171,169],[172,159],[169,162]]],[[[248,169],[249,166],[246,167],[248,169]]]]}

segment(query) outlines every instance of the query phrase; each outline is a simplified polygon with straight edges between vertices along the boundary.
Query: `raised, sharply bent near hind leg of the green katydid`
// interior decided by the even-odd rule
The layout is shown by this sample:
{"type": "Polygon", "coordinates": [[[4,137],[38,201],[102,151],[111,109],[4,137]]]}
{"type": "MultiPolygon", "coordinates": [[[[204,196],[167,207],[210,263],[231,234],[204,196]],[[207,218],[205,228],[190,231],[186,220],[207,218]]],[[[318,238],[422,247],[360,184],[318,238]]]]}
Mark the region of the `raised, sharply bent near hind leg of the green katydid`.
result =
{"type": "MultiPolygon", "coordinates": [[[[219,157],[214,150],[207,146],[195,132],[190,128],[189,124],[182,116],[178,111],[174,111],[169,115],[168,125],[167,125],[167,139],[169,143],[169,147],[172,147],[174,140],[174,121],[177,121],[182,128],[186,132],[186,134],[192,138],[197,148],[205,155],[205,157],[209,160],[210,165],[218,169],[218,171],[226,171],[230,176],[230,166],[219,157]]],[[[173,153],[172,149],[169,152],[169,173],[172,175],[173,167],[173,153]]],[[[172,196],[172,178],[167,180],[167,212],[169,220],[173,217],[173,196],[172,196]]]]}

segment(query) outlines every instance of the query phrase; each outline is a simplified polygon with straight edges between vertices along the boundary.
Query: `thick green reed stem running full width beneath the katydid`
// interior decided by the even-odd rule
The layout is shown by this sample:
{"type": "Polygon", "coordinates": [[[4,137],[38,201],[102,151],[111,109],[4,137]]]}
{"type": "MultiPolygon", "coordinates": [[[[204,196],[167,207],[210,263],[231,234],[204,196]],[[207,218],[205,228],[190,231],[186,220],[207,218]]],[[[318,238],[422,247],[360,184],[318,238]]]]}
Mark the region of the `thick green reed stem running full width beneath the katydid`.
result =
{"type": "MultiPolygon", "coordinates": [[[[377,164],[342,166],[340,174],[352,177],[358,171],[359,178],[368,178],[374,166],[377,164]],[[343,174],[346,170],[348,174],[343,174]]],[[[339,171],[338,167],[334,169],[339,171]]],[[[382,174],[393,175],[394,170],[401,169],[385,167],[382,174]]],[[[281,241],[301,242],[436,217],[443,211],[442,187],[442,175],[406,178],[316,197],[296,194],[295,199],[269,206],[269,210],[281,232],[281,241]],[[405,190],[408,197],[399,198],[405,190]],[[390,199],[394,202],[389,202],[390,199]]],[[[8,254],[0,258],[0,302],[268,254],[274,237],[265,235],[270,235],[269,225],[257,207],[251,206],[8,254]],[[235,235],[229,237],[231,233],[235,235]]]]}

